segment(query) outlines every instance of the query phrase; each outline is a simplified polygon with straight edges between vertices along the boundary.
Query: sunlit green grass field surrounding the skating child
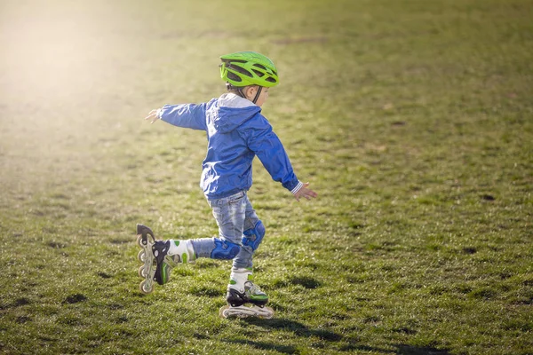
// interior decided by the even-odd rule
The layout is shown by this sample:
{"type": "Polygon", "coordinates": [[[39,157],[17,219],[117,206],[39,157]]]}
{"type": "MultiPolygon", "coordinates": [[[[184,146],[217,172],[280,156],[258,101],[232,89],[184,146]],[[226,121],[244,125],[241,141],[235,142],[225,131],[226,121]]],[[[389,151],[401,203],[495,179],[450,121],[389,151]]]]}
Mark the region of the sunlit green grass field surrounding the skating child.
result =
{"type": "Polygon", "coordinates": [[[0,352],[532,354],[530,0],[0,2],[0,352]],[[205,135],[143,120],[261,51],[301,180],[257,162],[255,280],[228,262],[139,293],[135,225],[216,235],[205,135]]]}

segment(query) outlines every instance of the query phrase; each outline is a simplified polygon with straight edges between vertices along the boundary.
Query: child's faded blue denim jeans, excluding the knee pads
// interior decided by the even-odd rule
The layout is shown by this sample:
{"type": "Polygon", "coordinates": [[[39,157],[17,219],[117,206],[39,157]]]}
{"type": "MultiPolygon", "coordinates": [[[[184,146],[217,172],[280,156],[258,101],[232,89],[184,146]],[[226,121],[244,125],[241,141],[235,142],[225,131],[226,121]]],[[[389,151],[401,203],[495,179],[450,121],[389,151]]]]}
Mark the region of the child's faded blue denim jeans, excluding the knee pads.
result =
{"type": "MultiPolygon", "coordinates": [[[[217,200],[208,200],[213,216],[219,225],[219,238],[241,246],[239,254],[233,261],[234,269],[252,266],[253,250],[243,246],[243,231],[252,229],[259,222],[259,217],[252,208],[245,191],[217,200]]],[[[212,238],[193,240],[197,257],[211,257],[215,248],[212,238]]]]}

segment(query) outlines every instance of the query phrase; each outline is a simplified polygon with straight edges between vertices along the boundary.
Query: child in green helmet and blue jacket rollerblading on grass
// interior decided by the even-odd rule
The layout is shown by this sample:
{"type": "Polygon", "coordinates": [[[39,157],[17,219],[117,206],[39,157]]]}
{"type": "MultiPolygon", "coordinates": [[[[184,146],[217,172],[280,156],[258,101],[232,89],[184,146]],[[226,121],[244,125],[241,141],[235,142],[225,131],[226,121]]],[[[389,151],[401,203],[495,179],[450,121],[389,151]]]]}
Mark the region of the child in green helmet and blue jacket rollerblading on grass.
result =
{"type": "Polygon", "coordinates": [[[251,167],[257,155],[271,177],[281,182],[299,201],[316,197],[309,183],[294,174],[282,142],[261,114],[269,88],[279,83],[272,60],[253,51],[220,57],[220,75],[227,91],[219,99],[195,105],[165,105],[152,110],[146,119],[161,119],[172,125],[207,132],[207,154],[203,161],[201,187],[219,225],[219,237],[187,241],[155,241],[152,231],[138,225],[139,260],[145,263],[139,275],[146,280],[144,293],[169,280],[177,263],[194,262],[198,257],[233,259],[227,286],[227,303],[220,314],[271,318],[264,307],[268,296],[251,282],[252,256],[265,236],[265,226],[247,197],[251,167]],[[147,235],[152,242],[147,241],[147,235]],[[155,267],[155,270],[154,270],[155,267]],[[253,304],[245,307],[243,304],[253,304]]]}

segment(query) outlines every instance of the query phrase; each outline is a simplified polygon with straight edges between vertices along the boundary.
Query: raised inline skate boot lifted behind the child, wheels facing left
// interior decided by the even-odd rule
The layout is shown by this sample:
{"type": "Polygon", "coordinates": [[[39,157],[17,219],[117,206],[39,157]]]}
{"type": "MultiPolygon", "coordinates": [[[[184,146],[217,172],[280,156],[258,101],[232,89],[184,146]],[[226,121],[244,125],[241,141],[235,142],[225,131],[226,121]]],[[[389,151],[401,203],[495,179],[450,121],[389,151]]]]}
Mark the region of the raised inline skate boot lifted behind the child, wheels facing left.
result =
{"type": "Polygon", "coordinates": [[[137,225],[140,292],[149,294],[154,290],[154,281],[164,285],[171,279],[171,270],[179,263],[194,263],[195,252],[191,241],[155,241],[154,233],[146,225],[137,225]],[[148,238],[150,237],[150,238],[148,238]]]}

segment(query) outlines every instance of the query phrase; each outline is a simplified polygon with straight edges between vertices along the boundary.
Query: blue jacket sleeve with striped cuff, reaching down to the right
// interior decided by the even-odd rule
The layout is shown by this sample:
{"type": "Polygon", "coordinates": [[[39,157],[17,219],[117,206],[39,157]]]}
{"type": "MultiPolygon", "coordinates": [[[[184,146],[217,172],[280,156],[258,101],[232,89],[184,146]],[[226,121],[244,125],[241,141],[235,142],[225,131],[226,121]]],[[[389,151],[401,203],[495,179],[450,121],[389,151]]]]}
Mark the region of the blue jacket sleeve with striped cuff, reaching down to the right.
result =
{"type": "Polygon", "coordinates": [[[259,157],[274,181],[281,182],[291,193],[296,193],[302,183],[294,174],[285,148],[267,119],[257,114],[242,128],[240,133],[248,147],[259,157]]]}

